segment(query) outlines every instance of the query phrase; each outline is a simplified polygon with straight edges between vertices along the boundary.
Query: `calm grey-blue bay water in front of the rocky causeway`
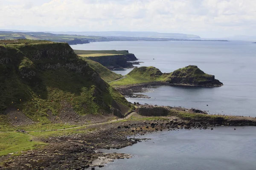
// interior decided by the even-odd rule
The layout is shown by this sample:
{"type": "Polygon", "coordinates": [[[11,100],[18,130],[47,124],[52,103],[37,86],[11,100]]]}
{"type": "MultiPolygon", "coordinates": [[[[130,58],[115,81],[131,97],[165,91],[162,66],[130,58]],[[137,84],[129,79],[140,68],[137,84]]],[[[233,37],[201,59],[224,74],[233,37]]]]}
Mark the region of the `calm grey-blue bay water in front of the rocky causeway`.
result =
{"type": "Polygon", "coordinates": [[[130,153],[96,170],[255,170],[256,127],[218,127],[153,133],[108,153],[130,153]]]}

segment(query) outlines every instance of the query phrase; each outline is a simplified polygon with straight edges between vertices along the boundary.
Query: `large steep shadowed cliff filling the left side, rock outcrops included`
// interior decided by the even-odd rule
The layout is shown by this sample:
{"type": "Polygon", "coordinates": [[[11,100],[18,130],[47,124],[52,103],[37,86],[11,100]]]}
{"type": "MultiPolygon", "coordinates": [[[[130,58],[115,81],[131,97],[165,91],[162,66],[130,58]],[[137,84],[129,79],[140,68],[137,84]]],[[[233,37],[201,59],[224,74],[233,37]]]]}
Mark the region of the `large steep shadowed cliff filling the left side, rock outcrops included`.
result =
{"type": "Polygon", "coordinates": [[[113,101],[130,106],[67,43],[0,41],[1,124],[11,112],[41,123],[65,111],[111,113],[113,101]]]}

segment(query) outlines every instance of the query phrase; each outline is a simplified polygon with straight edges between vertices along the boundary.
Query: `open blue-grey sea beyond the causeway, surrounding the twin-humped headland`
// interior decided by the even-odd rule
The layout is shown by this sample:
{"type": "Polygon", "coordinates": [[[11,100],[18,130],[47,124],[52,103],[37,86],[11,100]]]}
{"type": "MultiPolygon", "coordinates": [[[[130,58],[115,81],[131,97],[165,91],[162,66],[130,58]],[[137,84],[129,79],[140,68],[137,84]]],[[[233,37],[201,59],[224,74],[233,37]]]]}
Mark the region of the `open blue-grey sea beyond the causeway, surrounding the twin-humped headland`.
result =
{"type": "MultiPolygon", "coordinates": [[[[71,47],[128,50],[144,62],[136,66],[154,66],[163,73],[197,65],[224,83],[220,88],[152,88],[145,93],[151,99],[128,98],[130,102],[198,108],[212,114],[256,116],[256,44],[251,42],[93,42],[71,47]]],[[[125,75],[129,71],[131,69],[116,73],[125,75]]]]}

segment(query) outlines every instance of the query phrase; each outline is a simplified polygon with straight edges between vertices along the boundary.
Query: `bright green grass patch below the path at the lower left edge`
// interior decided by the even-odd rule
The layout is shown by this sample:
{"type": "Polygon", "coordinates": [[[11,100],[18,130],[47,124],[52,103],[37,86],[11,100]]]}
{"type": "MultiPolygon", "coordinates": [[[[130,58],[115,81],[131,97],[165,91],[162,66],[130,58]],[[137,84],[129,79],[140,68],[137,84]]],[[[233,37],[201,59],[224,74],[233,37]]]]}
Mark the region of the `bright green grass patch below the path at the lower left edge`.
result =
{"type": "Polygon", "coordinates": [[[26,133],[0,133],[0,156],[9,153],[18,155],[20,151],[32,150],[46,145],[44,142],[30,141],[33,137],[26,133]]]}

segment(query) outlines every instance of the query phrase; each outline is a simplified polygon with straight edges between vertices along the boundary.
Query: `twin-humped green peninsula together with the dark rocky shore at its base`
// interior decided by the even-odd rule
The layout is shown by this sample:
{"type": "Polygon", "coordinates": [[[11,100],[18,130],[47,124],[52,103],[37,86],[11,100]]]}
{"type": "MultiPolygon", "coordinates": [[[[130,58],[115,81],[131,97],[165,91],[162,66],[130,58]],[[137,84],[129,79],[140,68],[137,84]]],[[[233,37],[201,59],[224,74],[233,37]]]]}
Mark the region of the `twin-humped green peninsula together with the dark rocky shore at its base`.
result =
{"type": "Polygon", "coordinates": [[[172,86],[198,86],[198,87],[221,87],[223,85],[214,75],[206,74],[195,65],[180,68],[172,73],[162,73],[155,67],[134,68],[126,75],[126,78],[110,83],[122,95],[127,97],[147,98],[140,93],[146,88],[161,85],[172,86]]]}

